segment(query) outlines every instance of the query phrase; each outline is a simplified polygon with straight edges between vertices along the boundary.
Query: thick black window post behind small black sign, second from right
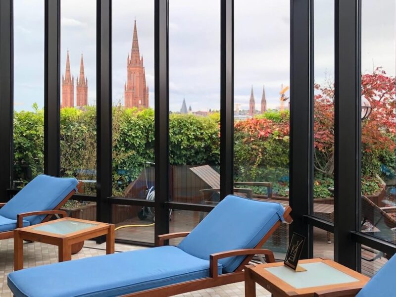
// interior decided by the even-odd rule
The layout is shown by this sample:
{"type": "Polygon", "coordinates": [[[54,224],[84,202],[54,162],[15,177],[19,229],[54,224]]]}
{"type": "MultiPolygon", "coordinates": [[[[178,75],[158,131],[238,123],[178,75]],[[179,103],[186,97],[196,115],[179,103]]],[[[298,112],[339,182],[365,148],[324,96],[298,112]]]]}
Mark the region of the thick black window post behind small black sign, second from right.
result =
{"type": "Polygon", "coordinates": [[[312,227],[303,222],[312,204],[313,50],[312,0],[291,0],[290,206],[297,232],[308,240],[301,256],[312,256],[312,227]]]}

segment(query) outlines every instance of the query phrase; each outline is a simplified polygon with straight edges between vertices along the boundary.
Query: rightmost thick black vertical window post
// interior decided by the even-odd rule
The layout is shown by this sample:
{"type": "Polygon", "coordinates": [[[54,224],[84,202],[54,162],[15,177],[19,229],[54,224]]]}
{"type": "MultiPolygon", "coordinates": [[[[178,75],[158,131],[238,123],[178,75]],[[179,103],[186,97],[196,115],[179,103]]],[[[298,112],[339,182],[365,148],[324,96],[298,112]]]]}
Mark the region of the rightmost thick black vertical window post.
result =
{"type": "Polygon", "coordinates": [[[358,267],[357,231],[360,196],[360,54],[359,0],[335,5],[335,199],[334,257],[351,269],[358,267]]]}

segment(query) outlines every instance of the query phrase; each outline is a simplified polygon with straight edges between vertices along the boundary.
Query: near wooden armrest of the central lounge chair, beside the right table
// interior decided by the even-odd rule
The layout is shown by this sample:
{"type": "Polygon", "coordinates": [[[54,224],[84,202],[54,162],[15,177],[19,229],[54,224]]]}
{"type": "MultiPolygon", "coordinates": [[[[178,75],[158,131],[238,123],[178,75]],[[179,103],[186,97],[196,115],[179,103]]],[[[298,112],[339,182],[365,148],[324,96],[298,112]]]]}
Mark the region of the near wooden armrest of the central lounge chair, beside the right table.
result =
{"type": "Polygon", "coordinates": [[[222,251],[218,253],[211,254],[209,257],[210,260],[210,276],[213,278],[217,277],[217,262],[219,259],[233,257],[233,256],[248,256],[248,255],[264,255],[265,261],[267,263],[275,262],[274,253],[266,248],[246,248],[246,249],[233,249],[228,251],[222,251]]]}

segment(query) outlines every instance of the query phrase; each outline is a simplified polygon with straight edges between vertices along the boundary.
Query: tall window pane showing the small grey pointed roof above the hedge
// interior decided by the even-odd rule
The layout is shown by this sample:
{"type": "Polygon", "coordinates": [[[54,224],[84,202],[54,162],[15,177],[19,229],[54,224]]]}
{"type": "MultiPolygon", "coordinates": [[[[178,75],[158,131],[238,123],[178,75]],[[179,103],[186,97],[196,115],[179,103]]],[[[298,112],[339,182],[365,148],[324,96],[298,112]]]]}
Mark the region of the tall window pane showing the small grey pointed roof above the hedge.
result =
{"type": "Polygon", "coordinates": [[[215,203],[220,187],[219,0],[169,1],[169,110],[169,199],[215,203]]]}

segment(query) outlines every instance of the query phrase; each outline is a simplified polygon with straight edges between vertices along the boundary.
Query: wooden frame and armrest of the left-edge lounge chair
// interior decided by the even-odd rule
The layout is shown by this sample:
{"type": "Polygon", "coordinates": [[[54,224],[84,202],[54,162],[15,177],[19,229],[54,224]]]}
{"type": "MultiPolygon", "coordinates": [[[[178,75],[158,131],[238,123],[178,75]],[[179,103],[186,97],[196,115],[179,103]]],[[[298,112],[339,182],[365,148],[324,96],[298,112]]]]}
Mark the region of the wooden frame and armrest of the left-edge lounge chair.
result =
{"type": "MultiPolygon", "coordinates": [[[[77,192],[81,190],[83,186],[82,182],[78,182],[77,184],[77,192]]],[[[31,212],[24,212],[24,213],[19,213],[16,215],[16,228],[22,228],[23,227],[23,218],[31,215],[43,215],[47,214],[44,219],[40,223],[47,222],[51,216],[54,214],[59,214],[62,215],[63,217],[67,216],[67,213],[63,210],[59,210],[60,207],[63,206],[69,200],[74,194],[76,193],[76,190],[73,189],[62,201],[59,202],[58,205],[54,207],[53,210],[40,210],[40,211],[31,211],[31,212]]],[[[0,207],[3,207],[6,203],[0,203],[0,207]]],[[[0,240],[2,239],[8,239],[8,238],[13,238],[14,237],[14,230],[9,230],[9,231],[4,231],[0,232],[0,240]]]]}

